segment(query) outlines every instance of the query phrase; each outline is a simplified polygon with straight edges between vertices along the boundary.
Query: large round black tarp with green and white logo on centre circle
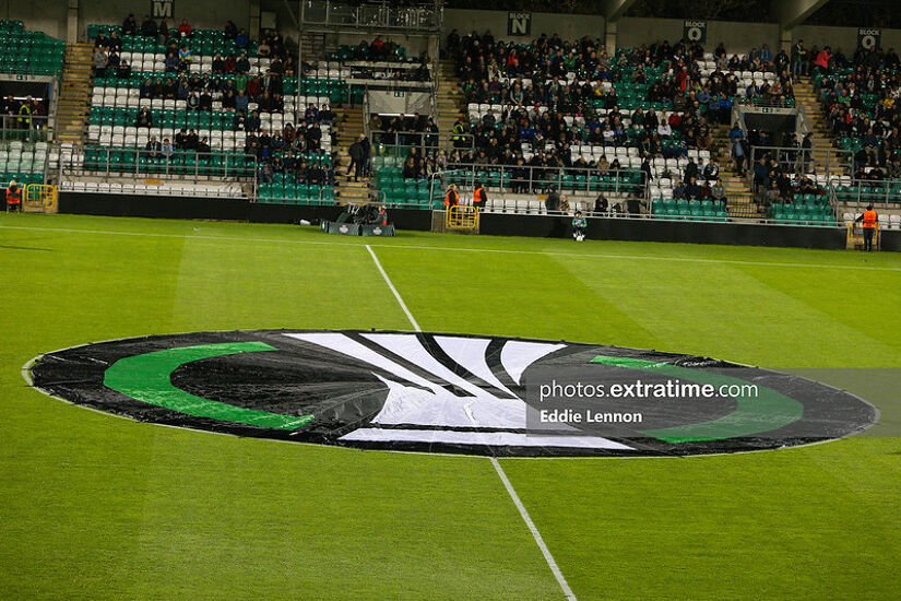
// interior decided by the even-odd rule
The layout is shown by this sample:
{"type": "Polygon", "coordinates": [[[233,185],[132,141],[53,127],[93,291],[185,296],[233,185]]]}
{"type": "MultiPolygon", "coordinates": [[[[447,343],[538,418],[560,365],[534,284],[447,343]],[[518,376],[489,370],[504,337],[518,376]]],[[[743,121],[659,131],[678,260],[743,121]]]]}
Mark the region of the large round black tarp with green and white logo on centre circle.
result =
{"type": "Polygon", "coordinates": [[[472,455],[762,450],[841,438],[878,419],[847,392],[707,357],[465,334],[158,335],[48,353],[29,375],[48,394],[142,422],[472,455]]]}

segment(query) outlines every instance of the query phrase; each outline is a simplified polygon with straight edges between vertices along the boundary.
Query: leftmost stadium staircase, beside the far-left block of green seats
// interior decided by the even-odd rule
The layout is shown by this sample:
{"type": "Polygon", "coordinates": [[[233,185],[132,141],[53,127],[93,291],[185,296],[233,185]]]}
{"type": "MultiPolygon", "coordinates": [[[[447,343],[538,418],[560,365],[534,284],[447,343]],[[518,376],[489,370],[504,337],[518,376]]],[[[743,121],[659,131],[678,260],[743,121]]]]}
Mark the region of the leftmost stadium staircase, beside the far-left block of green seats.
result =
{"type": "Polygon", "coordinates": [[[79,144],[84,138],[91,105],[94,46],[66,44],[62,85],[57,105],[57,141],[79,144]]]}

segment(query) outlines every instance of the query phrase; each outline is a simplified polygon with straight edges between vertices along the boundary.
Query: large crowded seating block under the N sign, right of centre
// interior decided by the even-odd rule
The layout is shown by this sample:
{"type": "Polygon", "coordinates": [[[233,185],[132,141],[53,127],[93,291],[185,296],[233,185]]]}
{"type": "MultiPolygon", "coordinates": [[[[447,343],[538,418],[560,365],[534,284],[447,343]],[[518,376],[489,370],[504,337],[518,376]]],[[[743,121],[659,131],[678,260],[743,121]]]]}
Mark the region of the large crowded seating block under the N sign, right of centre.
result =
{"type": "MultiPolygon", "coordinates": [[[[467,116],[449,132],[457,149],[448,158],[453,162],[460,153],[464,164],[512,168],[522,160],[532,168],[584,170],[583,179],[560,173],[556,184],[572,192],[606,191],[602,173],[616,162],[615,168],[643,170],[652,198],[672,199],[672,178],[681,177],[689,156],[710,162],[711,126],[728,122],[734,102],[793,105],[789,57],[772,57],[767,48],[730,58],[722,47],[704,54],[699,46],[654,45],[608,57],[600,40],[588,38],[569,43],[542,36],[513,44],[496,43],[490,34],[452,34],[448,49],[464,82],[467,116]],[[589,175],[592,169],[598,170],[589,175]]],[[[403,163],[388,167],[394,169],[389,181],[396,181],[403,163]]],[[[428,174],[428,168],[417,170],[428,174]]],[[[626,176],[626,185],[640,187],[636,176],[626,176]]],[[[502,189],[500,182],[500,174],[487,181],[502,189]]],[[[387,190],[400,197],[399,187],[387,190]]],[[[408,198],[410,187],[404,190],[408,198]]],[[[626,195],[635,192],[626,189],[626,195]]],[[[713,212],[701,214],[722,219],[722,201],[713,212]]]]}

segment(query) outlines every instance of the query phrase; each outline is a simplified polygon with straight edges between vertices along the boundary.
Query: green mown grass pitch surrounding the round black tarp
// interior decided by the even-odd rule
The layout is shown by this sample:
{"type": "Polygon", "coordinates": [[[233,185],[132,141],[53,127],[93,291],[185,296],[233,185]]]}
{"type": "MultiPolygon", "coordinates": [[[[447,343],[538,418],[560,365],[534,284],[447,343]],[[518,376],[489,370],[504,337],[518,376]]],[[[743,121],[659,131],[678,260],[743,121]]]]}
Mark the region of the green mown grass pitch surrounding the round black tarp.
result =
{"type": "MultiPolygon", "coordinates": [[[[142,334],[410,329],[367,241],[426,331],[901,367],[893,254],[0,215],[0,596],[562,598],[488,459],[133,423],[20,373],[142,334]]],[[[901,423],[890,387],[846,374],[901,423]]],[[[901,590],[899,438],[501,464],[579,599],[901,590]]]]}

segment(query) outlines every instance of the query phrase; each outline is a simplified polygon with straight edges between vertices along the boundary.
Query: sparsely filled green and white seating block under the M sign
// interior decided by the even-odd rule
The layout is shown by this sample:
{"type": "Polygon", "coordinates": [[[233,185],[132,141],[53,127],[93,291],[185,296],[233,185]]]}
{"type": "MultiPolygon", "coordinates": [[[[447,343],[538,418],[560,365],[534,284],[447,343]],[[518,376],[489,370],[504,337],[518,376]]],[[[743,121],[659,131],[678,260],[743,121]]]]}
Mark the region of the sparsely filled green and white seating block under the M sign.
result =
{"type": "Polygon", "coordinates": [[[218,196],[202,180],[227,178],[258,180],[248,193],[262,202],[332,199],[329,103],[346,97],[346,84],[298,79],[277,32],[257,43],[227,30],[144,35],[91,25],[90,122],[71,164],[87,175],[192,176],[199,185],[173,187],[186,193],[218,196]]]}

